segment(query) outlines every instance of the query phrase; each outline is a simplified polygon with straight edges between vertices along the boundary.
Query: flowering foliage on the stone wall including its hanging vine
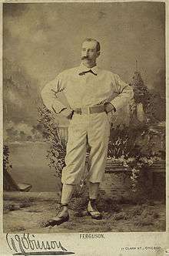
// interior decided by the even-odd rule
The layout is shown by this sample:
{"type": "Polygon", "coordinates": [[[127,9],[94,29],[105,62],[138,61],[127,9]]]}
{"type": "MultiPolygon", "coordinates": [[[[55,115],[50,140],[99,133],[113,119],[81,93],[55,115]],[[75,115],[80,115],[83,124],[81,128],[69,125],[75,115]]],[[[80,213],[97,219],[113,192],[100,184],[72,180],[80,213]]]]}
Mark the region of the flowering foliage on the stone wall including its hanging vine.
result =
{"type": "Polygon", "coordinates": [[[108,157],[128,167],[134,191],[144,171],[163,158],[164,137],[164,132],[152,130],[148,126],[140,129],[130,126],[121,129],[118,126],[117,129],[111,129],[108,157]]]}

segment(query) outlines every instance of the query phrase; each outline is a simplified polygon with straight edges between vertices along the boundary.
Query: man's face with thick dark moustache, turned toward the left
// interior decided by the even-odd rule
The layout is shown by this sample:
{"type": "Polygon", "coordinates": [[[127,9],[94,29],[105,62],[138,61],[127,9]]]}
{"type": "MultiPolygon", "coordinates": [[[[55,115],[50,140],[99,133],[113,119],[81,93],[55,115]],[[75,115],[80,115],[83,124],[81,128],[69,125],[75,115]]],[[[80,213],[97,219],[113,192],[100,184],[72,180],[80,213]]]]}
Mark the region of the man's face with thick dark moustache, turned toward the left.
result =
{"type": "Polygon", "coordinates": [[[96,59],[99,56],[100,52],[97,52],[96,49],[97,42],[91,41],[85,41],[82,43],[81,47],[81,60],[84,64],[94,64],[96,62],[96,59]]]}

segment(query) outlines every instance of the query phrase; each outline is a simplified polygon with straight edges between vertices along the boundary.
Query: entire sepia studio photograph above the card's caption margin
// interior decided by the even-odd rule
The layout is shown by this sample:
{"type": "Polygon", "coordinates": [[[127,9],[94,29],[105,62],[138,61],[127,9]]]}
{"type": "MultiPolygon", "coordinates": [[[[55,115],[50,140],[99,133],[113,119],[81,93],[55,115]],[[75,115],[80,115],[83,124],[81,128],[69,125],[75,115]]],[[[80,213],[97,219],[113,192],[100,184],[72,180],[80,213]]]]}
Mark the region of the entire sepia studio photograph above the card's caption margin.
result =
{"type": "Polygon", "coordinates": [[[3,233],[165,232],[165,3],[9,2],[2,24],[3,233]]]}

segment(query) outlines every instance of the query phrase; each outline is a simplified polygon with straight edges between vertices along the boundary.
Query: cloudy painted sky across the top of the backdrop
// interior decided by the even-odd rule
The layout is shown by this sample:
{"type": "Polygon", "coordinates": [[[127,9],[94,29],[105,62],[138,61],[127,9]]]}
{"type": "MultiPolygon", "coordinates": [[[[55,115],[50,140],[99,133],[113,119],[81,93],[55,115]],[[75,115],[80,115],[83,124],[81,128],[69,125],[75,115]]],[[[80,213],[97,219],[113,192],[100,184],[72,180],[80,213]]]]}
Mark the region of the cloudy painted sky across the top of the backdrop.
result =
{"type": "MultiPolygon", "coordinates": [[[[138,69],[149,87],[164,76],[164,3],[4,4],[4,50],[43,87],[81,62],[81,41],[101,42],[98,64],[131,80],[138,69]]],[[[162,78],[164,79],[164,77],[162,78]]]]}

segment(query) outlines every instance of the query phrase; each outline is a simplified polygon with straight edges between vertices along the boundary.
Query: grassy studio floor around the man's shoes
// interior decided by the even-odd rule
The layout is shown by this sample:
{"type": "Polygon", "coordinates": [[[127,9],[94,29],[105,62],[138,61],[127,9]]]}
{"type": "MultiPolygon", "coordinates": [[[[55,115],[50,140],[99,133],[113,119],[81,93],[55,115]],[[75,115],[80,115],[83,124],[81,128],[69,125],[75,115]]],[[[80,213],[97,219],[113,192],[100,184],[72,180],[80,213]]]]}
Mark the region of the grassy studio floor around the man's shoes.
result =
{"type": "MultiPolygon", "coordinates": [[[[143,204],[114,203],[111,211],[102,205],[102,220],[92,220],[85,208],[70,210],[68,222],[55,227],[44,227],[59,207],[59,194],[8,192],[4,194],[4,233],[57,232],[146,232],[165,231],[165,204],[146,201],[143,204]]],[[[108,204],[105,202],[105,204],[108,204]]],[[[110,204],[110,203],[109,203],[110,204]]]]}

